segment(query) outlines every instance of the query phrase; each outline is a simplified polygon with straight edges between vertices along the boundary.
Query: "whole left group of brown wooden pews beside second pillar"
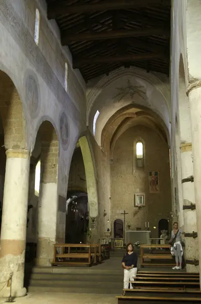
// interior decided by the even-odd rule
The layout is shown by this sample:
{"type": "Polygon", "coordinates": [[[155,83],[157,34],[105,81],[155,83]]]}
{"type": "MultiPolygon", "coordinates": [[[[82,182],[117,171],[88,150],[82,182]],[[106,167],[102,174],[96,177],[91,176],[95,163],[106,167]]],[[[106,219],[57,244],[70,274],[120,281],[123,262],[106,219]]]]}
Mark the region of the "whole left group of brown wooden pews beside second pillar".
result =
{"type": "Polygon", "coordinates": [[[52,265],[91,266],[109,257],[105,244],[55,244],[52,265]]]}

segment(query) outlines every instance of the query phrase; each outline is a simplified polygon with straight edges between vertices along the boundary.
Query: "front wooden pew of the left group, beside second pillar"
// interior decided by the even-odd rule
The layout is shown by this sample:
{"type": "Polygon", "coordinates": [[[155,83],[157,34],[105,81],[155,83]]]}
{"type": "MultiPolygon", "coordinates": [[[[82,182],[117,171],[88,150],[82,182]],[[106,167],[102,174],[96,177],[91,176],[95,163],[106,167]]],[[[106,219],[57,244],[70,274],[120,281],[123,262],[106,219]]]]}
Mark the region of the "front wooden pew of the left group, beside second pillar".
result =
{"type": "MultiPolygon", "coordinates": [[[[94,256],[93,254],[91,254],[91,244],[55,244],[54,260],[52,262],[52,265],[62,264],[62,265],[90,266],[93,261],[92,258],[94,258],[94,256]],[[58,253],[58,251],[60,251],[60,253],[58,253]]],[[[94,260],[95,259],[96,259],[96,254],[94,260]]]]}

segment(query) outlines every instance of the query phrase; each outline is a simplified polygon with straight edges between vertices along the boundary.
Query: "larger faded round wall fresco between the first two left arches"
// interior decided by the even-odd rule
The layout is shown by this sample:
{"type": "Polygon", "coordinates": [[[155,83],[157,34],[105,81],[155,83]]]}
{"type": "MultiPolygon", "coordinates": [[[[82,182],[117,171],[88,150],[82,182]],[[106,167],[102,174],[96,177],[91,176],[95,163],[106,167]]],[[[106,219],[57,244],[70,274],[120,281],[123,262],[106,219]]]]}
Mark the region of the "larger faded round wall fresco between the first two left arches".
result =
{"type": "Polygon", "coordinates": [[[37,81],[33,74],[28,74],[25,80],[26,103],[30,108],[31,116],[35,116],[39,108],[39,93],[37,81]]]}

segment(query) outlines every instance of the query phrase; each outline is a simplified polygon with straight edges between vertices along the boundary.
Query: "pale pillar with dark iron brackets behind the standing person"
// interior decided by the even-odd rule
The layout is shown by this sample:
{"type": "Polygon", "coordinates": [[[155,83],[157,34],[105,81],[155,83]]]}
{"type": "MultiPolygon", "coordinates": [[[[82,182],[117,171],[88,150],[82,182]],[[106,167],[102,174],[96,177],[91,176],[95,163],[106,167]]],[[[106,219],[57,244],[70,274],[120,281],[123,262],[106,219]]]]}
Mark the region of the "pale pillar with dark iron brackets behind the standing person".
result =
{"type": "MultiPolygon", "coordinates": [[[[183,192],[183,205],[189,206],[195,204],[194,197],[194,183],[187,179],[193,176],[193,163],[192,163],[192,144],[190,142],[180,145],[181,151],[181,164],[182,164],[182,192],[183,192]]],[[[196,227],[196,212],[191,209],[183,210],[184,216],[184,232],[192,233],[197,232],[196,227]]],[[[192,237],[185,238],[185,259],[193,260],[198,259],[197,252],[197,238],[192,237]]],[[[198,272],[198,268],[195,265],[186,264],[187,272],[198,272]]]]}

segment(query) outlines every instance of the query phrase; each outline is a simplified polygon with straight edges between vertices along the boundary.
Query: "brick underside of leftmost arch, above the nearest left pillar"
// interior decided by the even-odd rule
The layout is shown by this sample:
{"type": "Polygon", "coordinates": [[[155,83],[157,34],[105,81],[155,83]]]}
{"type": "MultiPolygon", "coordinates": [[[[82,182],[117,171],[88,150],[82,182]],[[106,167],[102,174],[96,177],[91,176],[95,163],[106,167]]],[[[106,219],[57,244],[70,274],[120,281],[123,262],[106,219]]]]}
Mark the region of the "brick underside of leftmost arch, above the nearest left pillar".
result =
{"type": "Polygon", "coordinates": [[[26,123],[21,98],[9,75],[0,70],[0,115],[6,149],[26,149],[26,123]]]}

